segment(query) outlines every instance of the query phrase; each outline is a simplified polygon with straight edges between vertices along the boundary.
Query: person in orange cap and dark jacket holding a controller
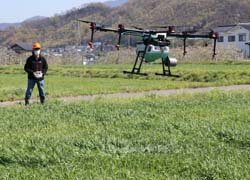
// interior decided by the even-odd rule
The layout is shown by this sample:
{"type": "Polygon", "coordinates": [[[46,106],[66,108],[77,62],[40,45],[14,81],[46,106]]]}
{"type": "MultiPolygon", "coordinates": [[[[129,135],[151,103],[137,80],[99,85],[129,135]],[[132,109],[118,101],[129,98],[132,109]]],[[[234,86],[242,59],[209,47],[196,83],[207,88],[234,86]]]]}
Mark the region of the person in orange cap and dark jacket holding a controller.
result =
{"type": "Polygon", "coordinates": [[[32,55],[26,60],[24,70],[28,73],[28,86],[25,94],[25,105],[29,104],[33,88],[37,84],[40,102],[45,101],[44,91],[44,75],[48,70],[48,64],[44,57],[41,56],[41,45],[34,43],[32,47],[32,55]]]}

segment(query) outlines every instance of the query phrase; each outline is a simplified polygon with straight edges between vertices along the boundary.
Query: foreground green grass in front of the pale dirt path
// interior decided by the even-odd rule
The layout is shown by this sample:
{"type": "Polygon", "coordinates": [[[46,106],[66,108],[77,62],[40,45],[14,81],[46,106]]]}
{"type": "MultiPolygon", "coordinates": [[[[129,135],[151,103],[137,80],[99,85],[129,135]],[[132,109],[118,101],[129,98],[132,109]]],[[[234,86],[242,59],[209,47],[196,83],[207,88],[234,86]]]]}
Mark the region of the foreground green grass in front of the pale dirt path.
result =
{"type": "Polygon", "coordinates": [[[249,179],[250,93],[0,109],[2,179],[249,179]]]}

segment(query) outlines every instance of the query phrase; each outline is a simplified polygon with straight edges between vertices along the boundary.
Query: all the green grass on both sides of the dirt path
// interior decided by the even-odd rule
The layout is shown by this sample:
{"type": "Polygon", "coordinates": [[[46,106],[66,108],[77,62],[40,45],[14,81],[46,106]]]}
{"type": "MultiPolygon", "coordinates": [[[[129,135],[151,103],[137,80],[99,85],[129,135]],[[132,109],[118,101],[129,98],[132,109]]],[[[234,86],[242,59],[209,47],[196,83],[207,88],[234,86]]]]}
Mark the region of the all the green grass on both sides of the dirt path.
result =
{"type": "MultiPolygon", "coordinates": [[[[49,101],[0,108],[0,179],[250,179],[250,93],[62,103],[53,97],[250,83],[250,63],[50,66],[49,101]]],[[[0,101],[23,99],[22,66],[0,67],[0,101]]],[[[33,98],[36,98],[35,90],[33,98]]]]}

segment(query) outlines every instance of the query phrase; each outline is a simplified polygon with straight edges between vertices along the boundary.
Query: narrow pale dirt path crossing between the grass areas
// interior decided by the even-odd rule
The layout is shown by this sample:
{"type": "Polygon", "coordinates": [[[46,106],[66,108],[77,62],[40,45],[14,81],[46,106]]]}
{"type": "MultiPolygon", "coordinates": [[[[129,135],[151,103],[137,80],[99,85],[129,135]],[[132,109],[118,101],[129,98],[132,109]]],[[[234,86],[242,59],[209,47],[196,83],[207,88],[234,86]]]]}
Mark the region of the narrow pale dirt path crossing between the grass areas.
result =
{"type": "MultiPolygon", "coordinates": [[[[83,95],[75,97],[60,97],[53,98],[53,100],[59,100],[64,102],[75,102],[75,101],[90,101],[96,98],[133,98],[133,97],[143,97],[147,95],[160,95],[169,96],[172,94],[182,94],[182,93],[205,93],[212,90],[220,91],[235,91],[235,90],[248,90],[250,91],[250,84],[246,85],[233,85],[233,86],[221,86],[221,87],[204,87],[204,88],[185,88],[185,89],[170,89],[170,90],[152,90],[144,92],[134,92],[134,93],[114,93],[114,94],[97,94],[97,95],[83,95]]],[[[37,100],[31,100],[31,103],[37,102],[37,100]]],[[[17,104],[23,104],[23,101],[6,101],[1,102],[0,107],[14,106],[17,104]]]]}

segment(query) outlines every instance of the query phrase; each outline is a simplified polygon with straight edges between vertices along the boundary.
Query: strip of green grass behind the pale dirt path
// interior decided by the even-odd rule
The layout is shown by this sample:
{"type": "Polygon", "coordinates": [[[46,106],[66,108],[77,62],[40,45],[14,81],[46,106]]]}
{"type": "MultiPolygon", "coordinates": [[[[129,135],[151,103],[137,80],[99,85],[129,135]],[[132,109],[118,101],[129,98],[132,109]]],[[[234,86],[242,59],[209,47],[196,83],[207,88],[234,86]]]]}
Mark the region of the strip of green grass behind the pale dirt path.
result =
{"type": "MultiPolygon", "coordinates": [[[[132,65],[51,66],[46,77],[48,97],[77,96],[157,89],[206,87],[250,83],[249,62],[179,64],[172,68],[176,77],[155,76],[160,64],[144,64],[149,76],[126,75],[132,65]]],[[[0,67],[0,101],[23,99],[26,74],[22,66],[0,67]]],[[[34,92],[33,97],[37,95],[34,92]]]]}

